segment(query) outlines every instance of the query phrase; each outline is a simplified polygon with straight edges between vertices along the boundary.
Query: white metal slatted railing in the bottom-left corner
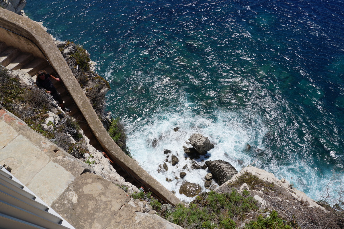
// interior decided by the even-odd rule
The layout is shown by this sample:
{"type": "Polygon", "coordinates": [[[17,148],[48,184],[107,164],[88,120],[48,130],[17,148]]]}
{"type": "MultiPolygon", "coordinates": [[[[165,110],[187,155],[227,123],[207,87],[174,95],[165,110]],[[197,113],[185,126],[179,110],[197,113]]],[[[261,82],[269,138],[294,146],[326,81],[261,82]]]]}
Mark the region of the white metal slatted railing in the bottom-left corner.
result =
{"type": "Polygon", "coordinates": [[[1,229],[75,229],[0,165],[1,229]]]}

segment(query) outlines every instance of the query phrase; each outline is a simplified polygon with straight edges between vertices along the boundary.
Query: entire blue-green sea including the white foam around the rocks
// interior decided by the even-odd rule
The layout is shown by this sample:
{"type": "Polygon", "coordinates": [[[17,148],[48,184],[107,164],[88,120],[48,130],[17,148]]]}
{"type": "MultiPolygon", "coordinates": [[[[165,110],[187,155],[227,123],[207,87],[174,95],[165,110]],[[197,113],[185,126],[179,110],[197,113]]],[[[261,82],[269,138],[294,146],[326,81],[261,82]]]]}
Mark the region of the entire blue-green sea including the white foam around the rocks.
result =
{"type": "Polygon", "coordinates": [[[254,163],[314,199],[343,179],[343,0],[28,0],[24,10],[89,51],[133,157],[178,197],[184,165],[184,180],[204,187],[207,171],[184,158],[193,133],[215,145],[198,161],[254,163]],[[179,163],[158,173],[163,149],[179,163]]]}

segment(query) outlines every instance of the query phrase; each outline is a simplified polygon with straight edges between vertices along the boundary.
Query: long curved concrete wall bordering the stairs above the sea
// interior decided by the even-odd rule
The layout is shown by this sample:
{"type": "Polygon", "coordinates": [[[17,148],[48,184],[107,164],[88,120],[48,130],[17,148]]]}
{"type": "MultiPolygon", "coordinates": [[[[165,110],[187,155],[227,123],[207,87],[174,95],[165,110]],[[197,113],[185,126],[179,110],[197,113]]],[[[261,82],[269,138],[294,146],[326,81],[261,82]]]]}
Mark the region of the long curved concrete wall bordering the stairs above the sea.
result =
{"type": "MultiPolygon", "coordinates": [[[[0,26],[28,37],[40,47],[55,73],[64,84],[66,91],[74,100],[80,113],[84,116],[99,144],[112,160],[164,201],[173,205],[180,203],[180,200],[174,194],[143,170],[137,162],[128,157],[108,135],[92,105],[80,88],[79,83],[73,76],[71,69],[69,69],[60,51],[55,46],[52,38],[40,25],[28,18],[0,8],[0,26]]],[[[40,50],[38,48],[33,47],[34,45],[28,45],[28,43],[23,41],[23,38],[18,35],[3,34],[1,32],[0,41],[10,46],[20,48],[23,51],[27,50],[27,52],[35,56],[40,56],[40,50]],[[11,41],[9,41],[9,39],[11,41]]]]}

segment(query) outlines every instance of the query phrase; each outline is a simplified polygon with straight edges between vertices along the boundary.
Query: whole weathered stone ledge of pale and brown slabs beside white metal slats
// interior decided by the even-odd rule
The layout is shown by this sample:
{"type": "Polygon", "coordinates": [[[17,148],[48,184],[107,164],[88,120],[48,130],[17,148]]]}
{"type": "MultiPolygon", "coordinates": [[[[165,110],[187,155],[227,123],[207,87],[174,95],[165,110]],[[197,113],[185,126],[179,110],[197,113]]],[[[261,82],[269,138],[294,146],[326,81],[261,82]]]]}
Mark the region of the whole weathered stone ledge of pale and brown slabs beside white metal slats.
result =
{"type": "Polygon", "coordinates": [[[0,127],[1,165],[8,165],[16,178],[73,227],[181,229],[5,109],[0,110],[0,127]]]}

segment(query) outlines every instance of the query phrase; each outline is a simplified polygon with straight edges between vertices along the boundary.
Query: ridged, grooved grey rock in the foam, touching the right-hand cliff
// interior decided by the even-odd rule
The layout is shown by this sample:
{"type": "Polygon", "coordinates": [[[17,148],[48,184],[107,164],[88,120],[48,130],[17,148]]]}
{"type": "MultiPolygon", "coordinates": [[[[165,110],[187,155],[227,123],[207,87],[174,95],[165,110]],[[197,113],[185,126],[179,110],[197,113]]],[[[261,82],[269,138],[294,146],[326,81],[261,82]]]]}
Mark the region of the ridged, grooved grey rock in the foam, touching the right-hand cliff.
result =
{"type": "Polygon", "coordinates": [[[222,185],[226,181],[230,180],[238,171],[227,161],[215,160],[206,161],[205,164],[212,172],[214,179],[217,180],[219,185],[222,185]]]}

